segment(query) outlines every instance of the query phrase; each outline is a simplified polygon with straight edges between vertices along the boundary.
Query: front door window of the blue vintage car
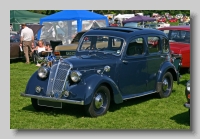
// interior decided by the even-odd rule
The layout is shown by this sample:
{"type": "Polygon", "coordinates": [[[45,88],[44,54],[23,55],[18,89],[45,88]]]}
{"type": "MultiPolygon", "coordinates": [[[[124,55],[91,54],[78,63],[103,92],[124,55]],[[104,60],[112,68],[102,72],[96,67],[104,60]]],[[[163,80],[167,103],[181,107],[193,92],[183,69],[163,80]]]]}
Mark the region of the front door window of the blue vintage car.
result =
{"type": "Polygon", "coordinates": [[[126,54],[128,56],[142,55],[144,53],[144,39],[136,38],[133,39],[127,48],[126,54]]]}

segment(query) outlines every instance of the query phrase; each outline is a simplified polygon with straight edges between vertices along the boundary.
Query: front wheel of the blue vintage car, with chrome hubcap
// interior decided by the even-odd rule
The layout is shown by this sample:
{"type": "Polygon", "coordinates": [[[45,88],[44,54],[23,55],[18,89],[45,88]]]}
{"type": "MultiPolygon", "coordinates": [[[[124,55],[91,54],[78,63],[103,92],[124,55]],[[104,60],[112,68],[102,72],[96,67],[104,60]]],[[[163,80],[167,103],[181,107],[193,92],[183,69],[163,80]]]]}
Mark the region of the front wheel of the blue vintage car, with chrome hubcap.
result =
{"type": "Polygon", "coordinates": [[[100,86],[92,98],[92,102],[85,106],[90,117],[98,117],[107,113],[110,107],[110,91],[106,86],[100,86]]]}

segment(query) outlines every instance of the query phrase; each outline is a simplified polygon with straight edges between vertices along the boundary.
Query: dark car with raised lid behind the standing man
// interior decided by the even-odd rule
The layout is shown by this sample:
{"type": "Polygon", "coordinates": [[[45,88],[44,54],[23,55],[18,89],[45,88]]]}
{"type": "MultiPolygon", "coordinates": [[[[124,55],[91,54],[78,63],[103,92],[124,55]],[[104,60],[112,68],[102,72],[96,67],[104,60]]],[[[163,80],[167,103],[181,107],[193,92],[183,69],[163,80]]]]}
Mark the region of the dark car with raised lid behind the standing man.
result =
{"type": "MultiPolygon", "coordinates": [[[[42,25],[27,25],[33,30],[34,35],[42,28],[42,25]]],[[[23,51],[20,50],[20,32],[12,33],[10,32],[10,59],[24,58],[23,51]],[[13,35],[14,34],[14,35],[13,35]]]]}

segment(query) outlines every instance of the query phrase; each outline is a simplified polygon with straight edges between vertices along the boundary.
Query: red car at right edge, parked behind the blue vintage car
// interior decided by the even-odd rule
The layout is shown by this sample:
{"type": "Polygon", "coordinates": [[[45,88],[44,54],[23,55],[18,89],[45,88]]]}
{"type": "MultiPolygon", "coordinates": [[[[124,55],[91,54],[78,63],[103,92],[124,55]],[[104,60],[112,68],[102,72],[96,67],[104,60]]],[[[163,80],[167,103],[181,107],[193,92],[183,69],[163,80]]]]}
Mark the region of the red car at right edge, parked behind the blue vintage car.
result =
{"type": "Polygon", "coordinates": [[[168,34],[172,54],[182,55],[182,68],[190,70],[190,26],[170,26],[159,28],[168,34]]]}

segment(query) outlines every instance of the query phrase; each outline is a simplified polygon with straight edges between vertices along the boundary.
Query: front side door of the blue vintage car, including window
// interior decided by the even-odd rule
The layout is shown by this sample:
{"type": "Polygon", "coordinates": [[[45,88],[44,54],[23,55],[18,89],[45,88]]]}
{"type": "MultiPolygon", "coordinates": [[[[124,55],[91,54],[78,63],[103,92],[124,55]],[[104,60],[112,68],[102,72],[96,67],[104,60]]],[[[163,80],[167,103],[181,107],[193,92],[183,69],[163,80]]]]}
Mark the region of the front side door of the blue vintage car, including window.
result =
{"type": "Polygon", "coordinates": [[[147,61],[143,37],[132,38],[124,50],[119,70],[119,87],[123,97],[146,91],[147,61]]]}

